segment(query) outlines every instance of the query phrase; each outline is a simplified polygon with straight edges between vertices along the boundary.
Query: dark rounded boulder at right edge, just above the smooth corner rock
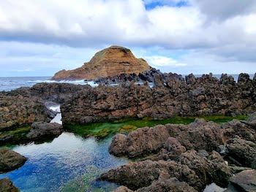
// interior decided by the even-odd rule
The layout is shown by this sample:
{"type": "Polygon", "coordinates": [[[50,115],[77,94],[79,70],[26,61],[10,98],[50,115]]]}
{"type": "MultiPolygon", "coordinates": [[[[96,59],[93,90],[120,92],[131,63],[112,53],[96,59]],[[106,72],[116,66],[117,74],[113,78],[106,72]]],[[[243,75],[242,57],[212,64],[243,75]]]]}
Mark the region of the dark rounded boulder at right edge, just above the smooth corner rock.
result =
{"type": "Polygon", "coordinates": [[[256,167],[256,144],[246,141],[240,137],[235,137],[227,141],[227,155],[230,161],[238,166],[256,167]]]}

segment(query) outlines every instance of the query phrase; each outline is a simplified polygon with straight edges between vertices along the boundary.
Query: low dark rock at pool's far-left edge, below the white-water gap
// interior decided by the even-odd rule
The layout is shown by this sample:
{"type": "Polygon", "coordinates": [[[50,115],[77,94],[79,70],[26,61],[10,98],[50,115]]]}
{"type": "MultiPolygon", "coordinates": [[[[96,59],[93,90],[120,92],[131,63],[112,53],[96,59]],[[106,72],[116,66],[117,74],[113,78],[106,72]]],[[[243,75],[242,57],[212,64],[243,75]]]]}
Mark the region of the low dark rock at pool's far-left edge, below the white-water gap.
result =
{"type": "Polygon", "coordinates": [[[27,138],[31,140],[49,139],[57,137],[62,133],[62,126],[59,123],[35,122],[31,125],[27,138]]]}

